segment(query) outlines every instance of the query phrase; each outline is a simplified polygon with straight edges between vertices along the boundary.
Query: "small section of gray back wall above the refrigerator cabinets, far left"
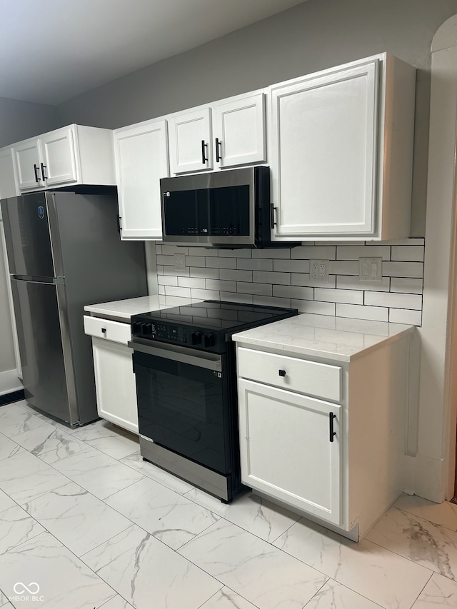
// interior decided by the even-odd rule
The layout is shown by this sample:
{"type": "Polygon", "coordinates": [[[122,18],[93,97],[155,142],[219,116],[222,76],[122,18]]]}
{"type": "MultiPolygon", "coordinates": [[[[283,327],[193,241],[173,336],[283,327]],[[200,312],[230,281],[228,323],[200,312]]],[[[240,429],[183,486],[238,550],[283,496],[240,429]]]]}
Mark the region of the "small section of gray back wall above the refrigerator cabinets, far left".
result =
{"type": "Polygon", "coordinates": [[[54,106],[0,97],[0,148],[58,126],[59,115],[54,106]]]}

